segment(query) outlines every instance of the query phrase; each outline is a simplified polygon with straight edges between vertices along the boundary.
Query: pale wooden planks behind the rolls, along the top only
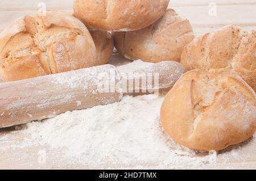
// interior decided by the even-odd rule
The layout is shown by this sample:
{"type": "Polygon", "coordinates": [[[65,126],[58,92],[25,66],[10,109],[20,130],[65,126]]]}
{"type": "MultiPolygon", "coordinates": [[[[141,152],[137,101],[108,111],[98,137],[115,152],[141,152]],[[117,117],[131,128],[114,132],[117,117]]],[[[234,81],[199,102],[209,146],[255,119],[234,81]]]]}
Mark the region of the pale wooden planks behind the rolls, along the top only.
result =
{"type": "MultiPolygon", "coordinates": [[[[72,0],[1,0],[0,31],[20,16],[35,14],[40,2],[46,3],[47,10],[72,12],[72,0]]],[[[171,0],[169,7],[191,20],[197,35],[227,24],[236,24],[246,30],[256,27],[255,0],[171,0]],[[209,5],[213,3],[216,4],[216,16],[209,15],[209,11],[214,9],[209,5]]]]}

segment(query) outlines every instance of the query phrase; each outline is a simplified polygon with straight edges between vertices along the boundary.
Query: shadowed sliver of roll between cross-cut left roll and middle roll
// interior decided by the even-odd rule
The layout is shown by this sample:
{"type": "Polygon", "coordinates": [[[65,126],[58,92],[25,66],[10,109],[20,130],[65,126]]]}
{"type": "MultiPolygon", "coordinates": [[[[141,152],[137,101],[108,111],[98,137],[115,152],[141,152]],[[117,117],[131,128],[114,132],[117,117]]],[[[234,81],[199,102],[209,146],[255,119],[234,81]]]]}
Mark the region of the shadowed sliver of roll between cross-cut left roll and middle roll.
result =
{"type": "Polygon", "coordinates": [[[89,28],[89,31],[96,46],[97,58],[95,66],[107,64],[114,50],[112,33],[92,28],[89,28]]]}

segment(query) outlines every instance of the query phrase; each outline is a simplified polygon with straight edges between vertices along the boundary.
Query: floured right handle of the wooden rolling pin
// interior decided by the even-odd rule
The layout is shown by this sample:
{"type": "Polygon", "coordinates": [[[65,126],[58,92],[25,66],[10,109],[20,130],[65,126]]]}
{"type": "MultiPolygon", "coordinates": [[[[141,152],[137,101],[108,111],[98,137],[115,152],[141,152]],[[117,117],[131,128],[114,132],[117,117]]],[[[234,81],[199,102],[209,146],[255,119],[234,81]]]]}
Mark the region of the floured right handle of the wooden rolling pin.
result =
{"type": "MultiPolygon", "coordinates": [[[[159,89],[173,87],[184,73],[183,66],[174,61],[163,61],[158,64],[153,64],[137,60],[130,64],[121,65],[117,67],[117,70],[122,75],[121,81],[124,79],[122,85],[125,83],[126,79],[128,79],[128,82],[134,82],[131,90],[140,90],[140,92],[143,92],[143,89],[147,91],[152,89],[151,93],[159,89]],[[126,79],[124,77],[126,77],[126,79]],[[144,87],[142,79],[144,81],[144,87]],[[154,82],[155,79],[157,82],[154,82]],[[139,84],[135,85],[136,82],[139,82],[139,84]]],[[[130,88],[129,86],[127,87],[128,89],[130,88]]],[[[129,92],[129,90],[123,91],[125,93],[129,92]]]]}

